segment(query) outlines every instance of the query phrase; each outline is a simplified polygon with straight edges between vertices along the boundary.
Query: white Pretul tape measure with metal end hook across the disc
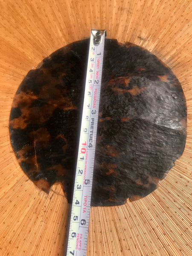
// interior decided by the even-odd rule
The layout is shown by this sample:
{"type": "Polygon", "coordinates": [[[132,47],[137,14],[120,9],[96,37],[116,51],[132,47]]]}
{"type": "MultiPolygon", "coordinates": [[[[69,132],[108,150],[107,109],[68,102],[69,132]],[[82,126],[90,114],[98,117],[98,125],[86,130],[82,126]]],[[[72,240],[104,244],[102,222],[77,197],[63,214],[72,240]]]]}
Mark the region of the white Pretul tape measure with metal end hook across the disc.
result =
{"type": "Polygon", "coordinates": [[[67,256],[86,256],[105,30],[91,30],[67,256]]]}

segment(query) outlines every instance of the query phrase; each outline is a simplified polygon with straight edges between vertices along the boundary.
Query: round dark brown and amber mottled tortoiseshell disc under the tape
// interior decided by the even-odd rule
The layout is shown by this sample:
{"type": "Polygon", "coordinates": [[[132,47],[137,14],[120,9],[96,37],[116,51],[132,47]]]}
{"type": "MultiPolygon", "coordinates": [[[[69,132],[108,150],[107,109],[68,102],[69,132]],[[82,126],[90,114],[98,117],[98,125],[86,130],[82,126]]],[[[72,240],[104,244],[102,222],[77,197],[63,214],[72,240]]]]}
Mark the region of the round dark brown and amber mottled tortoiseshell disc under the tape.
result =
{"type": "MultiPolygon", "coordinates": [[[[89,40],[58,49],[30,70],[10,114],[10,137],[26,175],[72,201],[89,40]]],[[[147,50],[105,39],[91,205],[142,198],[181,156],[186,102],[172,71],[147,50]]]]}

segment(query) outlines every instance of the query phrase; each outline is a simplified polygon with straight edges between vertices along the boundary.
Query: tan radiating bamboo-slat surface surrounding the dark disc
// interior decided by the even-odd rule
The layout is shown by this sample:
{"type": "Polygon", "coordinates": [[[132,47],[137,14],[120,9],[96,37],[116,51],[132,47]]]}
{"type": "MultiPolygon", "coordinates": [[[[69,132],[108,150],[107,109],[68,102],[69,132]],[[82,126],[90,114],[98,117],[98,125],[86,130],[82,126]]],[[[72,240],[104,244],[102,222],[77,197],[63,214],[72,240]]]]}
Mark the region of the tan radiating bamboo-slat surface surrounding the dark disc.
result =
{"type": "Polygon", "coordinates": [[[15,92],[58,48],[106,29],[108,38],[148,49],[179,79],[186,97],[186,147],[158,188],[116,207],[93,207],[87,255],[192,255],[192,2],[189,0],[12,0],[0,2],[0,255],[63,255],[69,205],[23,174],[9,139],[15,92]]]}

